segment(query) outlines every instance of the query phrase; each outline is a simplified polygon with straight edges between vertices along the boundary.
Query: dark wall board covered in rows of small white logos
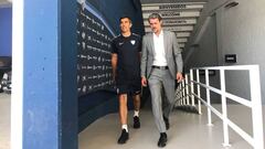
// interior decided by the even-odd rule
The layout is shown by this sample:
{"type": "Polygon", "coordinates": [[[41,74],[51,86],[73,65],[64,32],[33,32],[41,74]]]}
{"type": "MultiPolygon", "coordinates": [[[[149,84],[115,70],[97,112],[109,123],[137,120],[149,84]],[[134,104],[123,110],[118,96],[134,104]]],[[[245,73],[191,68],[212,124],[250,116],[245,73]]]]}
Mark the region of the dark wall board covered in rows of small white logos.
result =
{"type": "Polygon", "coordinates": [[[112,31],[95,14],[78,3],[77,10],[77,91],[78,96],[113,86],[112,31]]]}

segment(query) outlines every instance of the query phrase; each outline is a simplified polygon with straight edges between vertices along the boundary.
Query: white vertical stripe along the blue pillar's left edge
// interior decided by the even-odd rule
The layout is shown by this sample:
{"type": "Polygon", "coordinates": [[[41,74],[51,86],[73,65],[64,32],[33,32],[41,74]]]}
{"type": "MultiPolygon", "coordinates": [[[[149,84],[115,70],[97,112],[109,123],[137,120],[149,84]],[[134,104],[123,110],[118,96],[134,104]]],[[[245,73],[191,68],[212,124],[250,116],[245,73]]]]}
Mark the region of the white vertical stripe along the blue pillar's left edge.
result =
{"type": "Polygon", "coordinates": [[[12,6],[11,149],[23,148],[23,2],[12,6]]]}

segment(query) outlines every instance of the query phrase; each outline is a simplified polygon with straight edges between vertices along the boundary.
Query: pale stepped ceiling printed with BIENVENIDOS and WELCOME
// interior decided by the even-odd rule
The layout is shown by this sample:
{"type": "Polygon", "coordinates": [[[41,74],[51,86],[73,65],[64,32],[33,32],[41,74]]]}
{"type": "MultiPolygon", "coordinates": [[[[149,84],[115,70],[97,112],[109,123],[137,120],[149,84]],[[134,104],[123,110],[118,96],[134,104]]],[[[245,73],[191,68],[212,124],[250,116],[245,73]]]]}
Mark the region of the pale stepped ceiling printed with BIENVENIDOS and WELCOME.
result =
{"type": "Polygon", "coordinates": [[[184,2],[183,0],[163,0],[162,2],[161,0],[141,0],[141,2],[146,32],[151,31],[148,15],[158,12],[163,18],[163,29],[176,33],[178,43],[182,49],[188,43],[189,36],[193,32],[201,11],[206,3],[205,0],[186,0],[184,2]]]}

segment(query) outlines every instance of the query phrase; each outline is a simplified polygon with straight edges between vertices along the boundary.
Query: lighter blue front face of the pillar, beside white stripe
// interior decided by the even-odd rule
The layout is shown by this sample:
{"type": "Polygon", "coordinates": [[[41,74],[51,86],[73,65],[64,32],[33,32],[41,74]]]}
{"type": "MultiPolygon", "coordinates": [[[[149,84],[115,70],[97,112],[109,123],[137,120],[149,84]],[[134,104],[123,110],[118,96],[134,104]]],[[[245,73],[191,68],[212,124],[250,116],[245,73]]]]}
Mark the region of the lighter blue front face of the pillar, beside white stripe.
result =
{"type": "Polygon", "coordinates": [[[60,145],[57,8],[54,0],[24,1],[24,149],[60,145]]]}

